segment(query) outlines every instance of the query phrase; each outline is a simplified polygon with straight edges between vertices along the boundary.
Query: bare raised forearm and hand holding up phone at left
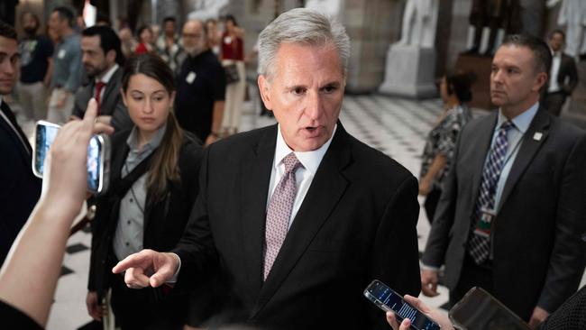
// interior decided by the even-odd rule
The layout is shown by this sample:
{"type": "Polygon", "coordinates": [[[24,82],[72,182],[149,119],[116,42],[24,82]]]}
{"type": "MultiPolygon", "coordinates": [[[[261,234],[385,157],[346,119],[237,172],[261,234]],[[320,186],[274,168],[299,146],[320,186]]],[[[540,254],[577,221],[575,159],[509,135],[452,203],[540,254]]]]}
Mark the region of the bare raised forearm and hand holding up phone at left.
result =
{"type": "Polygon", "coordinates": [[[60,129],[50,148],[41,199],[0,270],[0,299],[39,325],[47,324],[69,227],[86,199],[87,145],[95,117],[92,100],[83,121],[60,129]]]}

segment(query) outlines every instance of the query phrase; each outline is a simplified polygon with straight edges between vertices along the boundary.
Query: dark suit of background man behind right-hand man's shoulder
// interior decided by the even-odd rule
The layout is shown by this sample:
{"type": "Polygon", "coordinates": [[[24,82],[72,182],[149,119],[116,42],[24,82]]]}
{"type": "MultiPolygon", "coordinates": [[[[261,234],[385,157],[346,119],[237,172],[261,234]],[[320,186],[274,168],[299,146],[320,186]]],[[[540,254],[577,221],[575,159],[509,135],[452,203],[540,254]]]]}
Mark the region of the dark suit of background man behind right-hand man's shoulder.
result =
{"type": "Polygon", "coordinates": [[[562,106],[565,103],[565,99],[568,96],[572,96],[572,91],[578,86],[576,61],[572,57],[562,53],[560,69],[557,72],[557,76],[551,77],[551,79],[557,82],[560,89],[555,91],[545,89],[543,105],[552,115],[559,116],[562,113],[562,106]]]}

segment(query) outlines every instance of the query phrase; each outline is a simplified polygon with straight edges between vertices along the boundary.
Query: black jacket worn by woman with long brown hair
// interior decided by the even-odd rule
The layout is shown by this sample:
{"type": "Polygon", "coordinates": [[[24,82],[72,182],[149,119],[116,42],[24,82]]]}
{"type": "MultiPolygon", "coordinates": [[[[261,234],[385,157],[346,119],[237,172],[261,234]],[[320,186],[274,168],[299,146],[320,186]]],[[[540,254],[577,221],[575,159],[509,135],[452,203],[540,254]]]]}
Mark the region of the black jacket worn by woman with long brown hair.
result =
{"type": "MultiPolygon", "coordinates": [[[[96,216],[92,221],[92,252],[90,258],[87,289],[101,294],[110,288],[112,266],[109,253],[112,253],[114,232],[118,223],[120,200],[124,196],[114,196],[116,183],[120,181],[121,170],[128,155],[126,139],[131,130],[112,135],[112,165],[110,188],[103,197],[97,198],[96,216]]],[[[147,194],[144,209],[145,249],[168,251],[179,242],[189,212],[197,197],[197,173],[202,156],[202,148],[193,135],[186,134],[179,155],[179,184],[169,183],[169,192],[162,200],[153,202],[147,194]]],[[[156,152],[156,151],[155,151],[156,152]]]]}

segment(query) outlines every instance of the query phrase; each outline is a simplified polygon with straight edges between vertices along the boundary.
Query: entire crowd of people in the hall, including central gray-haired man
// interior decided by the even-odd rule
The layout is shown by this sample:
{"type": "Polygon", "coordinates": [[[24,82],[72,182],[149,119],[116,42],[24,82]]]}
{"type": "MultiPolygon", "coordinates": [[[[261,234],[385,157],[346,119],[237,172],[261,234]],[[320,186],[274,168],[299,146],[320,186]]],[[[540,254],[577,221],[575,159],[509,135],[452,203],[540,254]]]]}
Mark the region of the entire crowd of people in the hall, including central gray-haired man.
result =
{"type": "Polygon", "coordinates": [[[158,39],[144,27],[134,45],[107,26],[78,34],[73,17],[52,12],[55,45],[33,42],[41,37],[32,14],[23,14],[20,47],[0,22],[0,95],[12,93],[19,60],[44,59],[33,64],[42,74],[28,71],[28,93],[50,80],[47,116],[67,123],[41,192],[31,146],[0,99],[0,146],[14,159],[0,165],[3,320],[46,325],[69,226],[86,198],[87,143],[105,132],[111,184],[93,199],[86,301],[96,321],[107,301],[122,329],[409,328],[362,297],[377,279],[450,329],[414,298],[437,295],[444,268],[451,305],[481,287],[532,327],[585,325],[575,315],[586,313],[586,290],[578,291],[586,133],[547,108],[575,87],[562,31],[549,45],[526,34],[504,39],[491,64],[498,111],[490,115],[472,119],[472,74],[440,80],[444,111],[417,183],[343,128],[350,40],[323,14],[293,9],[259,35],[261,100],[278,124],[247,133],[237,133],[244,54],[234,17],[223,33],[198,20],[177,33],[166,19],[158,39]],[[124,47],[135,54],[125,58],[124,47]],[[432,224],[421,264],[418,194],[432,224]]]}

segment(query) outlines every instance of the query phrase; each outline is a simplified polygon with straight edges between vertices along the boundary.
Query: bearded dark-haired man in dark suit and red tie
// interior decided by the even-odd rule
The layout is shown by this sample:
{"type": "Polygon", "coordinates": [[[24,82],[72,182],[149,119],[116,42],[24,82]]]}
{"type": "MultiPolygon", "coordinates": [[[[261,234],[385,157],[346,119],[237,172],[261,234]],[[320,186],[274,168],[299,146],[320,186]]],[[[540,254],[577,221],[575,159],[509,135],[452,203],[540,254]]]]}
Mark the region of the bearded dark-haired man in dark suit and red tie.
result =
{"type": "Polygon", "coordinates": [[[120,66],[124,63],[120,38],[107,26],[89,27],[81,33],[81,53],[81,62],[91,81],[76,93],[71,119],[83,118],[87,102],[96,97],[98,122],[111,125],[115,131],[132,127],[120,95],[120,66]]]}

